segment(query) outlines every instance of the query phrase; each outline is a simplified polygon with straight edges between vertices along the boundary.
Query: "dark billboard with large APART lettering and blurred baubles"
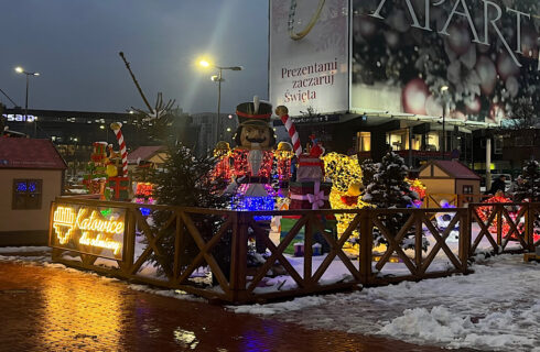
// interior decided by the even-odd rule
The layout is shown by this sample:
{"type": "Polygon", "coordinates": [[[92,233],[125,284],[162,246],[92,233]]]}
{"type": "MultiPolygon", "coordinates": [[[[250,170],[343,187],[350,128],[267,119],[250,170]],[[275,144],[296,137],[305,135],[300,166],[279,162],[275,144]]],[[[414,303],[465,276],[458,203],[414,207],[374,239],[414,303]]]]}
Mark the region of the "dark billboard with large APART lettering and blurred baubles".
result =
{"type": "Polygon", "coordinates": [[[350,110],[499,124],[540,108],[538,0],[353,0],[350,110]]]}

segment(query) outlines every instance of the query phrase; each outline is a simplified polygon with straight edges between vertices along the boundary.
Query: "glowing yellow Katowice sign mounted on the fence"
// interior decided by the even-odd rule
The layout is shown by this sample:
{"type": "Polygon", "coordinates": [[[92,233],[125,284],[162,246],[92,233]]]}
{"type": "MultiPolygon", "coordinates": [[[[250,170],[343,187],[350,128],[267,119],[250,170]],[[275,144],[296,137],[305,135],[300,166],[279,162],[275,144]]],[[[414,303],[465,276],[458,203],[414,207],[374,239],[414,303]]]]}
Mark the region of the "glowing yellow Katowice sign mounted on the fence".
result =
{"type": "Polygon", "coordinates": [[[121,261],[126,209],[77,204],[53,204],[48,244],[121,261]]]}

